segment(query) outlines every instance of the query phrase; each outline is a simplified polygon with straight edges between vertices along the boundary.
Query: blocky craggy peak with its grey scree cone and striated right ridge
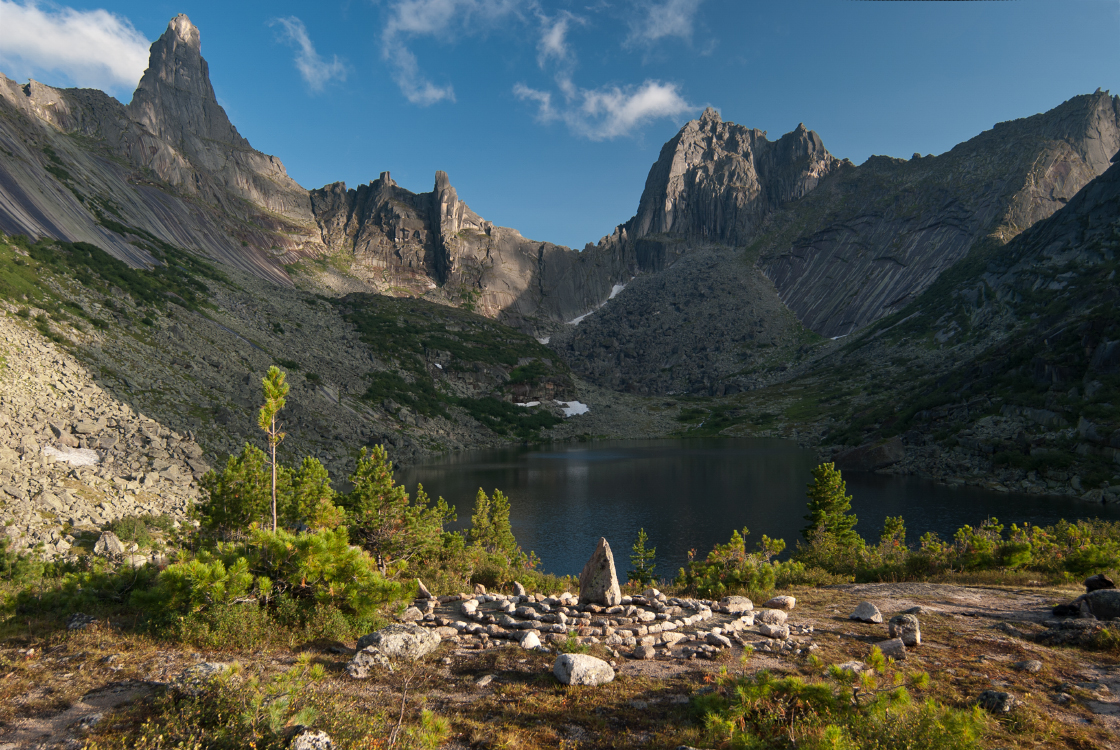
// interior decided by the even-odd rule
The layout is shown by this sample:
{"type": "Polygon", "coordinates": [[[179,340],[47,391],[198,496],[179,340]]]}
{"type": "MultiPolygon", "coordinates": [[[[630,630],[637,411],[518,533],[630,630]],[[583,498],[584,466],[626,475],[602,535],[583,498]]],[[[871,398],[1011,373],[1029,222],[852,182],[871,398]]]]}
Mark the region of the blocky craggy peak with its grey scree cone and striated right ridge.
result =
{"type": "Polygon", "coordinates": [[[803,128],[769,143],[706,112],[666,143],[638,214],[599,243],[656,246],[672,268],[629,283],[552,345],[589,381],[637,392],[710,395],[785,378],[813,332],[848,335],[902,309],[978,242],[1007,242],[1053,214],[1118,149],[1120,97],[1107,92],[940,157],[858,167],[803,128]],[[678,260],[698,247],[721,260],[678,260]]]}

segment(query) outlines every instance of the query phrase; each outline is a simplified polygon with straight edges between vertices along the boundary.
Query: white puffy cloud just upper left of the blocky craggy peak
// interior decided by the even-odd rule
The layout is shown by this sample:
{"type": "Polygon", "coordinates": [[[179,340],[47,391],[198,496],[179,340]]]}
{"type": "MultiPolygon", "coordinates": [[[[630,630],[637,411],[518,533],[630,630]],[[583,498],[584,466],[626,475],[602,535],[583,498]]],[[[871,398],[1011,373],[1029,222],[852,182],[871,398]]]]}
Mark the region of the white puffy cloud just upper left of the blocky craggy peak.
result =
{"type": "Polygon", "coordinates": [[[684,101],[676,84],[660,81],[645,81],[641,86],[625,88],[591,90],[580,88],[561,76],[557,84],[566,100],[559,110],[549,92],[517,84],[513,94],[522,101],[536,103],[539,121],[563,120],[572,132],[592,141],[628,135],[653,120],[676,118],[697,109],[684,101]]]}

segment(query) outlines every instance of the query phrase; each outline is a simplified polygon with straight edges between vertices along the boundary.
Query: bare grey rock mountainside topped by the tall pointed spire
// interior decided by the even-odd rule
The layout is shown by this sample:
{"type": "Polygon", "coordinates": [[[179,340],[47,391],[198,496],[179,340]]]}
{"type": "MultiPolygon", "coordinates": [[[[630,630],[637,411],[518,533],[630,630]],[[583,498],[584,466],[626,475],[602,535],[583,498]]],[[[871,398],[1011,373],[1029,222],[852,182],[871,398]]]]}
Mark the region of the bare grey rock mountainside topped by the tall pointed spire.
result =
{"type": "Polygon", "coordinates": [[[152,45],[127,106],[0,76],[0,149],[8,234],[91,242],[150,266],[147,233],[281,284],[279,261],[321,251],[307,191],[230,123],[186,16],[152,45]]]}

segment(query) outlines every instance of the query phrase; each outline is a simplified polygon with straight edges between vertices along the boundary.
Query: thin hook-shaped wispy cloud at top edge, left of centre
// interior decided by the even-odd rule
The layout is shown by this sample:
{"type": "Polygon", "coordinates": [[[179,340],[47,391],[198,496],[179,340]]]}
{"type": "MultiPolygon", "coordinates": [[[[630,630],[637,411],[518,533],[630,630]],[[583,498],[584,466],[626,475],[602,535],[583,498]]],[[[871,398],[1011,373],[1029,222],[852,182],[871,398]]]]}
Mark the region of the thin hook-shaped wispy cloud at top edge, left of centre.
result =
{"type": "Polygon", "coordinates": [[[452,34],[477,34],[535,7],[535,2],[517,0],[399,0],[390,7],[381,32],[381,55],[393,67],[393,79],[401,93],[413,104],[454,102],[455,90],[428,79],[408,41],[416,37],[446,40],[452,34]]]}

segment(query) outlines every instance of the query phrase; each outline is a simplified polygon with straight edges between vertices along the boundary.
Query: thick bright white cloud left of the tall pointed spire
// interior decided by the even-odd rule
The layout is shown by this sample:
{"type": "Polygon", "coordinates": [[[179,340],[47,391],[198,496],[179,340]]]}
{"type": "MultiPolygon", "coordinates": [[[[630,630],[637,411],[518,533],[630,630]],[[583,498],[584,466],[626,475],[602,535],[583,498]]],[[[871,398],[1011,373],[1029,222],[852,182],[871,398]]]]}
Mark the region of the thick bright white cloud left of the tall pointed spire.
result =
{"type": "Polygon", "coordinates": [[[0,64],[19,77],[60,74],[74,85],[131,93],[151,43],[108,10],[0,0],[0,64]]]}

